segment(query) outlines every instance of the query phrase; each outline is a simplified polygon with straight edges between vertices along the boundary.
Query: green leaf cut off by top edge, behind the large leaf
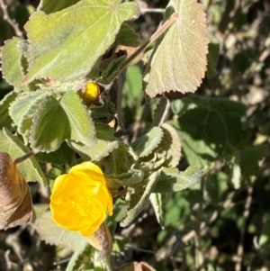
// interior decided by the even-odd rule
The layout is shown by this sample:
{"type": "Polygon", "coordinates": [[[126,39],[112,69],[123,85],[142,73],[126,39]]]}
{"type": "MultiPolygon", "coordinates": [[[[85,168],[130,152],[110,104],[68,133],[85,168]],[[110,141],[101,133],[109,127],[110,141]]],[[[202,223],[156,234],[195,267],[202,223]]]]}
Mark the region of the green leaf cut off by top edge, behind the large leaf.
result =
{"type": "Polygon", "coordinates": [[[70,5],[75,5],[80,0],[41,0],[38,10],[44,12],[45,14],[56,13],[70,5]]]}

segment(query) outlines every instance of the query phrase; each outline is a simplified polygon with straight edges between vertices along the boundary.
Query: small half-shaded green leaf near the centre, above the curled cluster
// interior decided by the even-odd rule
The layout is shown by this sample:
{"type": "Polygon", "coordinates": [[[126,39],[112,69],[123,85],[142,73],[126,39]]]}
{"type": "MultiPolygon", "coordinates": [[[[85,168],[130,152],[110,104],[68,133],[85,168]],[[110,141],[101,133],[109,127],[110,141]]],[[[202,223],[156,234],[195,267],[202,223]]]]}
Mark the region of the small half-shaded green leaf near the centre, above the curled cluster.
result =
{"type": "Polygon", "coordinates": [[[131,143],[131,148],[139,155],[146,157],[157,148],[163,138],[163,131],[160,127],[153,127],[150,131],[143,134],[139,139],[131,143]]]}

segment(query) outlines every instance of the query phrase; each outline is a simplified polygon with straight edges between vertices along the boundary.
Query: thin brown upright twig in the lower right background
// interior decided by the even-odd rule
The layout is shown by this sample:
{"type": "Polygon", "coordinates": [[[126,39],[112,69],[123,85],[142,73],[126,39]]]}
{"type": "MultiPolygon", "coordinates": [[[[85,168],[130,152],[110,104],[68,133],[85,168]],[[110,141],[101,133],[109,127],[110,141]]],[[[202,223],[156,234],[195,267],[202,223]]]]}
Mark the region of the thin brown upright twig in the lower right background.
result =
{"type": "Polygon", "coordinates": [[[240,231],[240,242],[238,244],[238,254],[237,254],[237,259],[236,259],[236,264],[235,264],[235,271],[241,270],[241,264],[243,261],[245,231],[246,231],[247,218],[249,216],[250,206],[252,203],[252,193],[253,193],[253,188],[252,186],[249,186],[247,189],[247,199],[245,203],[245,210],[243,213],[244,221],[243,221],[243,225],[240,231]]]}

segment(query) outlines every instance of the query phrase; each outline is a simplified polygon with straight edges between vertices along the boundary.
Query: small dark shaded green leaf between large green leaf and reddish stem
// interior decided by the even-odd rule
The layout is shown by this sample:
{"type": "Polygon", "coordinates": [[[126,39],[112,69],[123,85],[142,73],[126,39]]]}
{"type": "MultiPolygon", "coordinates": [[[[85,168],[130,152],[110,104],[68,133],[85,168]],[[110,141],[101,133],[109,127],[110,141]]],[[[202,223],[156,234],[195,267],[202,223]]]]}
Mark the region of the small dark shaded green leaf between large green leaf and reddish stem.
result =
{"type": "Polygon", "coordinates": [[[115,42],[116,44],[127,47],[138,47],[140,44],[139,36],[136,34],[134,29],[130,27],[130,25],[127,23],[121,24],[121,28],[115,38],[115,42]]]}

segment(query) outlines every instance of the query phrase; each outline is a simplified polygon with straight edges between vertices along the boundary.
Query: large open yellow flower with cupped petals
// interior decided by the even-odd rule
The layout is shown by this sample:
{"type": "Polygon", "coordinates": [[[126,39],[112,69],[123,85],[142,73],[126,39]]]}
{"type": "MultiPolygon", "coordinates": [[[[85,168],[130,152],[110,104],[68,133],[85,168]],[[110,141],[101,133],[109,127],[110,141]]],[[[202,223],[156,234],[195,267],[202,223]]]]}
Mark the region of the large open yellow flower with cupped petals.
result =
{"type": "Polygon", "coordinates": [[[100,167],[84,162],[55,180],[50,210],[56,223],[89,237],[112,215],[112,195],[100,167]]]}

